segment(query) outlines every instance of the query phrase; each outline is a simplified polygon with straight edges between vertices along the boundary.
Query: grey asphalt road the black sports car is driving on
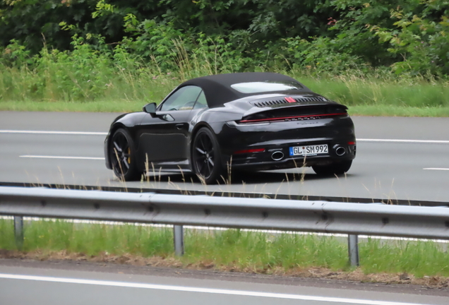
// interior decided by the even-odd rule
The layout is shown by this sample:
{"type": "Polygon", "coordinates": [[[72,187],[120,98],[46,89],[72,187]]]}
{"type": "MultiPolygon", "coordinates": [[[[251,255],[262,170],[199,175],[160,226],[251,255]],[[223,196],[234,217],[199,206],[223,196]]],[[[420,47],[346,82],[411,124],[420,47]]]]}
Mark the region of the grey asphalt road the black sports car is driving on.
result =
{"type": "MultiPolygon", "coordinates": [[[[102,160],[104,133],[117,115],[0,112],[0,181],[123,186],[102,160]]],[[[126,185],[449,201],[449,118],[353,119],[357,158],[346,177],[318,178],[311,169],[292,169],[243,174],[231,184],[203,186],[194,177],[155,173],[149,181],[126,185]]]]}

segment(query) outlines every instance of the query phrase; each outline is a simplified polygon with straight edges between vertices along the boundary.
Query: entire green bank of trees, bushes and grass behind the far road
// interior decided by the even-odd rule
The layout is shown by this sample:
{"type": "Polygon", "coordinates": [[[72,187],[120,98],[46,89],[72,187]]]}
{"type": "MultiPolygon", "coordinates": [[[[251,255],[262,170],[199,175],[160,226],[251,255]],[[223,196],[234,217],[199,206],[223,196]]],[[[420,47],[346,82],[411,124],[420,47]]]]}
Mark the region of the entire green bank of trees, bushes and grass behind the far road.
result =
{"type": "Polygon", "coordinates": [[[317,91],[344,104],[448,107],[448,16],[448,0],[0,0],[0,99],[159,102],[277,71],[338,83],[317,91]]]}

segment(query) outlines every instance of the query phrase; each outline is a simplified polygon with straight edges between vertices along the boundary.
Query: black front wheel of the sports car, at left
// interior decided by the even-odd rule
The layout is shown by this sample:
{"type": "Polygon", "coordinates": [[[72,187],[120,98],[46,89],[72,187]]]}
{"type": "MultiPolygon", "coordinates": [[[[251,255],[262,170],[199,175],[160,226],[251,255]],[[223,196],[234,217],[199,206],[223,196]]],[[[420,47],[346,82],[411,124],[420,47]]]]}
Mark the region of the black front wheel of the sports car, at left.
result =
{"type": "Polygon", "coordinates": [[[134,143],[124,128],[117,129],[112,135],[109,145],[109,160],[116,177],[123,181],[133,181],[140,178],[136,165],[134,143]]]}

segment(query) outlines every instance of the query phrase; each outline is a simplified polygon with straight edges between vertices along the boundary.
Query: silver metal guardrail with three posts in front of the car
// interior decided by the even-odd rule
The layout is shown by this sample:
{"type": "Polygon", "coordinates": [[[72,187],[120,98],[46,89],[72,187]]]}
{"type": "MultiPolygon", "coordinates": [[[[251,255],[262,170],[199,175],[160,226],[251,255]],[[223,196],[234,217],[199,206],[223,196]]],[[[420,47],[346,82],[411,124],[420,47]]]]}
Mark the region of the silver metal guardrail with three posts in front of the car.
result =
{"type": "Polygon", "coordinates": [[[183,227],[231,227],[348,234],[358,265],[357,235],[449,239],[449,208],[0,187],[0,215],[15,216],[18,247],[23,216],[174,225],[175,253],[183,227]]]}

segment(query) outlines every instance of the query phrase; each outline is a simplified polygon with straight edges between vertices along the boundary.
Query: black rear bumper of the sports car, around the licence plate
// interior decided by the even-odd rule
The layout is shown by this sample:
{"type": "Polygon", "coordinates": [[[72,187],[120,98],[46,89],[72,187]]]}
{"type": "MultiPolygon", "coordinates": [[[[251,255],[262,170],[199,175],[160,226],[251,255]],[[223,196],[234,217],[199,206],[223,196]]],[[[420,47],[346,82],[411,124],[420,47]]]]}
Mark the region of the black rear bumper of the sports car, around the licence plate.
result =
{"type": "Polygon", "coordinates": [[[353,160],[356,156],[354,124],[349,116],[253,126],[226,124],[217,134],[217,139],[224,164],[230,162],[232,167],[240,169],[286,169],[328,165],[353,160]],[[328,145],[328,153],[325,155],[289,155],[289,149],[295,146],[323,144],[328,145]],[[263,151],[236,153],[257,149],[263,151]]]}

